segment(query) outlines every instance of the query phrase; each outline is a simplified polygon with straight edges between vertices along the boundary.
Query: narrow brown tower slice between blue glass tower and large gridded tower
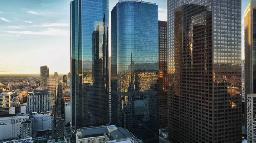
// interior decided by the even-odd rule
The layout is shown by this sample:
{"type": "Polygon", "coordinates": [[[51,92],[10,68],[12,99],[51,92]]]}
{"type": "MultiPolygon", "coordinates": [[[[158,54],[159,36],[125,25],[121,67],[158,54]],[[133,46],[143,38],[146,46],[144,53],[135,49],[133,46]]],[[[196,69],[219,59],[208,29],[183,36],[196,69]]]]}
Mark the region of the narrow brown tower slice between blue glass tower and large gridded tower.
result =
{"type": "Polygon", "coordinates": [[[158,59],[159,59],[159,126],[167,127],[168,92],[167,92],[167,21],[158,21],[158,59]]]}

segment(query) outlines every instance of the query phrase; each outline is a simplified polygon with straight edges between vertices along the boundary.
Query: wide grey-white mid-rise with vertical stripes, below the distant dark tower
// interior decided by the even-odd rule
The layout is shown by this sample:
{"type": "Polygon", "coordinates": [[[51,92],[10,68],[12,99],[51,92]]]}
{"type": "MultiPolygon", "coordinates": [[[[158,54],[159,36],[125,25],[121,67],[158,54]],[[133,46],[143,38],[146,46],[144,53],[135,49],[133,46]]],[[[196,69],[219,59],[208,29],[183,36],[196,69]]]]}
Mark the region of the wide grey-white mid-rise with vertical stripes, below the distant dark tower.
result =
{"type": "Polygon", "coordinates": [[[48,89],[34,90],[27,96],[27,113],[47,112],[53,109],[54,94],[49,93],[48,89]]]}

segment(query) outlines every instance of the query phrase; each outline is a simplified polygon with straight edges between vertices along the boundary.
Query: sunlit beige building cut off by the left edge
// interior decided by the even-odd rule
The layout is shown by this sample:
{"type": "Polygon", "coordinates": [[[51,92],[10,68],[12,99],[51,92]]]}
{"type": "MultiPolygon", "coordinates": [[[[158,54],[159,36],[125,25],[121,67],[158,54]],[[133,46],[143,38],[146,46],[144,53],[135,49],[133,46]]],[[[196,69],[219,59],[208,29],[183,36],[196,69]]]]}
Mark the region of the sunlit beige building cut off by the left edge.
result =
{"type": "Polygon", "coordinates": [[[0,114],[9,114],[9,108],[12,104],[12,92],[0,93],[0,114]]]}

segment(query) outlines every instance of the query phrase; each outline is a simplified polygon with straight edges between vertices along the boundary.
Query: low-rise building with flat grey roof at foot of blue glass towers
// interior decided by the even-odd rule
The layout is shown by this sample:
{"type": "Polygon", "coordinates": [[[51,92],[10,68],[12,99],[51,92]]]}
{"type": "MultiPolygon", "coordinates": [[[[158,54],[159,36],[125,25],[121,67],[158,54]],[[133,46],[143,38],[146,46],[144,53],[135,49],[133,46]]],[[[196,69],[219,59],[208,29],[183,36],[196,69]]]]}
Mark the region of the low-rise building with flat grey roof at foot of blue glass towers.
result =
{"type": "Polygon", "coordinates": [[[115,142],[114,140],[142,143],[127,129],[116,127],[115,125],[84,128],[76,131],[76,143],[112,143],[115,142]]]}

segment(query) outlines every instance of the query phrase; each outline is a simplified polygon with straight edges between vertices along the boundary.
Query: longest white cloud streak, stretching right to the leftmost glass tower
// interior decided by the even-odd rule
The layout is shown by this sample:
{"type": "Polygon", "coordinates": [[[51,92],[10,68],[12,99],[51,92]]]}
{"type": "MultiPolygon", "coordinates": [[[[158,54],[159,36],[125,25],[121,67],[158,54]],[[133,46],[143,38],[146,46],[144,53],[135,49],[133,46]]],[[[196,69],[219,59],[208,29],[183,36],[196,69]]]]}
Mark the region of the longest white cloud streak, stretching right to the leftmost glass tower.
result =
{"type": "Polygon", "coordinates": [[[28,35],[48,35],[48,36],[69,36],[70,31],[55,29],[55,28],[47,28],[46,31],[34,32],[34,31],[7,31],[8,33],[14,34],[28,34],[28,35]]]}

